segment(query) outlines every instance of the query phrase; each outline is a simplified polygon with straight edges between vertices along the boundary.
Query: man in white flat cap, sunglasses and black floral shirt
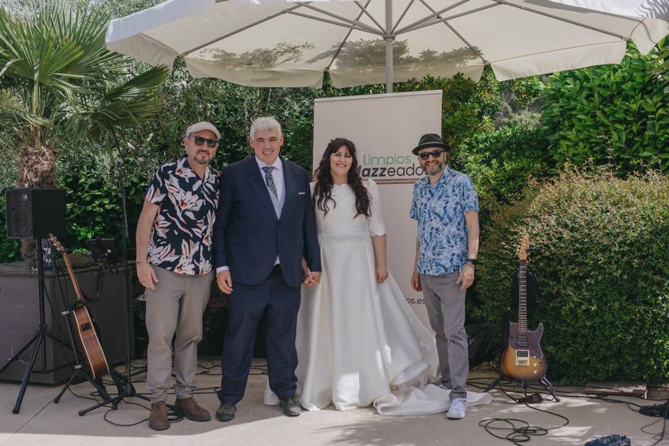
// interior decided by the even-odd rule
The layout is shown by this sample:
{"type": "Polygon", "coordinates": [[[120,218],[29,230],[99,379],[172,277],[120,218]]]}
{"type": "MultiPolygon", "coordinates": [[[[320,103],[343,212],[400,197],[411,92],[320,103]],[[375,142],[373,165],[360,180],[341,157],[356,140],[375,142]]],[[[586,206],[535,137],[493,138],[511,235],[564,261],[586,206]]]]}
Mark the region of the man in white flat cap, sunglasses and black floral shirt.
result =
{"type": "Polygon", "coordinates": [[[148,186],[137,222],[137,278],[146,286],[148,330],[146,388],[151,392],[148,425],[169,428],[167,391],[174,343],[178,415],[194,421],[211,419],[192,394],[202,314],[214,277],[211,233],[219,196],[219,176],[209,166],[221,134],[200,122],[185,132],[186,155],[163,164],[148,186]]]}

